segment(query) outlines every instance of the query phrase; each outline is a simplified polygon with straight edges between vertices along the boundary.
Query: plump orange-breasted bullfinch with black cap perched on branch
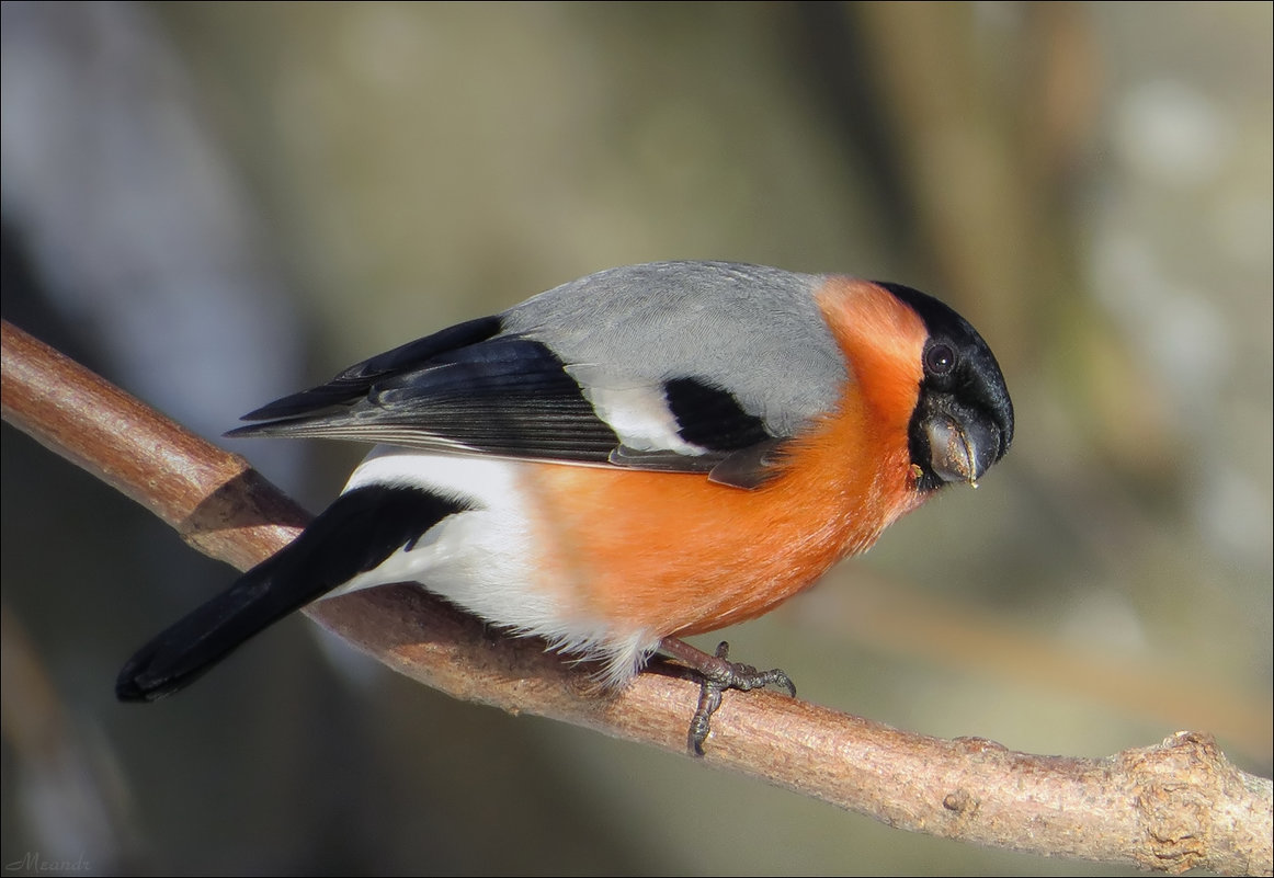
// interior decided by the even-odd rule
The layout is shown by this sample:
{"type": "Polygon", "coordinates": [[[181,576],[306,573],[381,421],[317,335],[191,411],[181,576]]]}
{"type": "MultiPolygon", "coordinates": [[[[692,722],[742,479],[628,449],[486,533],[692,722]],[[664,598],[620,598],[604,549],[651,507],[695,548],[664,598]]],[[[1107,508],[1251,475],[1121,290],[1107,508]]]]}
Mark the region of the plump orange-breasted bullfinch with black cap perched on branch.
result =
{"type": "Polygon", "coordinates": [[[426,335],[229,437],[372,443],[288,547],[143,646],[121,701],[182,689],[311,601],[413,582],[620,688],[659,655],[796,688],[683,637],[762,615],[1013,441],[995,356],[911,287],[725,261],[606,269],[426,335]]]}

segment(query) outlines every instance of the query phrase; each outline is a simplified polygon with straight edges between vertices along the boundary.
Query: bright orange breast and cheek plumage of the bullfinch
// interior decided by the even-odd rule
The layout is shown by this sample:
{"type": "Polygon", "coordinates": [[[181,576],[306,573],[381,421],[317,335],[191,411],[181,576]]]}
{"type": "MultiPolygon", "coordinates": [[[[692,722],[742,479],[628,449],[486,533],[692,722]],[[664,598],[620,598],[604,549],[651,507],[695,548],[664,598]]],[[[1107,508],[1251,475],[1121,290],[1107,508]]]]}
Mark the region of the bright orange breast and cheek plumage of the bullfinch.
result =
{"type": "Polygon", "coordinates": [[[693,474],[534,470],[524,488],[545,547],[539,567],[561,605],[660,636],[721,628],[808,587],[921,502],[906,431],[922,326],[861,282],[832,282],[819,298],[854,378],[833,414],[787,443],[781,475],[761,488],[693,474]],[[882,347],[873,331],[901,338],[882,347]]]}

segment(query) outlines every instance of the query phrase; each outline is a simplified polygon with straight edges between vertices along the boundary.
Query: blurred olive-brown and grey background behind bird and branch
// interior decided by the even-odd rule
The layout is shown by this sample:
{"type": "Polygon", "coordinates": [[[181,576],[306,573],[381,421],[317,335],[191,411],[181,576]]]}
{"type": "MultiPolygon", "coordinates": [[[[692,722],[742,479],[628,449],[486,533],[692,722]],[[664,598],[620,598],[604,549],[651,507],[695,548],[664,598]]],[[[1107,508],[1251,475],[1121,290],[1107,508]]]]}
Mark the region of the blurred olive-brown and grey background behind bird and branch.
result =
{"type": "MultiPolygon", "coordinates": [[[[734,655],[926,734],[1101,757],[1206,730],[1269,776],[1270,4],[0,14],[6,319],[218,437],[612,265],[926,289],[996,352],[1013,452],[734,655]]],[[[124,659],[233,573],[3,442],[19,872],[1110,874],[457,703],[302,618],[121,706],[124,659]]],[[[311,510],[363,452],[225,445],[311,510]]]]}

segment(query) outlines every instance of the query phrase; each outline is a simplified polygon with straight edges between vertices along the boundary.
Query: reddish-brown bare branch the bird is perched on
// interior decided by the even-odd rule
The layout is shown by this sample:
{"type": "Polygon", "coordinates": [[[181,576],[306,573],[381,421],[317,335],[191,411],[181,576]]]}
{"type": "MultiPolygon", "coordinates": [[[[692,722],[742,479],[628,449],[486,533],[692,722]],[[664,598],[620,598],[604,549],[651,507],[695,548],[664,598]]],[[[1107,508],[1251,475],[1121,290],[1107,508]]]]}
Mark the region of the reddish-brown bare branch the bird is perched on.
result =
{"type": "MultiPolygon", "coordinates": [[[[245,570],[308,516],[237,455],[189,433],[8,321],[4,419],[245,570]]],[[[641,674],[603,696],[536,641],[493,635],[420,589],[391,586],[306,613],[395,670],[456,698],[685,753],[691,682],[641,674]]],[[[706,759],[868,814],[982,845],[1178,873],[1271,874],[1274,785],[1181,731],[1105,759],[1032,756],[980,738],[899,731],[775,692],[729,692],[706,759]]]]}

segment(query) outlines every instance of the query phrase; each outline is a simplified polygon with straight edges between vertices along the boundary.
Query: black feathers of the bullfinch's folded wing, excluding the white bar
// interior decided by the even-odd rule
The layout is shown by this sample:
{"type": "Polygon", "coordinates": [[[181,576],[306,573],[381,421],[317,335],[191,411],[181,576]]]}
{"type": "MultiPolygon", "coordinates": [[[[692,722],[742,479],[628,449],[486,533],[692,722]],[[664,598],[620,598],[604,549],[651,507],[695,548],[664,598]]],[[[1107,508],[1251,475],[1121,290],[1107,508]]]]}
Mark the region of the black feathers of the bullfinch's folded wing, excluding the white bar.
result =
{"type": "Polygon", "coordinates": [[[345,370],[327,384],[243,417],[227,436],[339,438],[428,451],[666,471],[710,471],[754,487],[776,437],[724,389],[693,377],[662,382],[676,435],[701,454],[633,450],[590,404],[568,364],[544,343],[471,320],[345,370]],[[729,463],[729,466],[722,464],[729,463]]]}

